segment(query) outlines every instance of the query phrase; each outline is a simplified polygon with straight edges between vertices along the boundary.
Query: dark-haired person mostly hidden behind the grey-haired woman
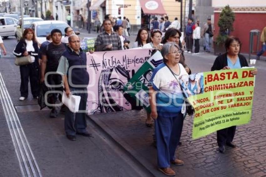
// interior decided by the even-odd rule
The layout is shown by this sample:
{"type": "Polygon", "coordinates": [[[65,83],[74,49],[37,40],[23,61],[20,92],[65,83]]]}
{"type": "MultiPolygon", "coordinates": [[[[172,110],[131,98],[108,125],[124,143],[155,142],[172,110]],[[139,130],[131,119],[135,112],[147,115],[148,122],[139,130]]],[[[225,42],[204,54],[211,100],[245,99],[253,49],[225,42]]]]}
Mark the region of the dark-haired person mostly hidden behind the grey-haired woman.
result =
{"type": "Polygon", "coordinates": [[[183,67],[186,69],[188,74],[191,74],[191,70],[190,68],[187,66],[187,64],[185,63],[185,56],[184,56],[184,51],[182,50],[182,43],[180,41],[180,37],[181,37],[181,32],[175,28],[169,28],[164,35],[164,39],[162,41],[162,43],[167,43],[167,42],[175,42],[178,47],[181,49],[182,53],[180,55],[180,61],[179,63],[181,63],[183,65],[183,67]]]}

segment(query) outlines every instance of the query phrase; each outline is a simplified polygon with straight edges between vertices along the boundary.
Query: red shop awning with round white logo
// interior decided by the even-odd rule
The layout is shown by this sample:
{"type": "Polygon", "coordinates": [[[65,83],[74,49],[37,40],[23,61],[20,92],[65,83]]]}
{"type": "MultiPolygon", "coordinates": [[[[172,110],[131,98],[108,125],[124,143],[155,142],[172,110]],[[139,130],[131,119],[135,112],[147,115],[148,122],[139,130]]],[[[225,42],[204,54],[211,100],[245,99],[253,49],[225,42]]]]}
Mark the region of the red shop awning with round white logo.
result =
{"type": "Polygon", "coordinates": [[[143,13],[151,15],[164,15],[166,14],[161,0],[139,0],[143,13]]]}

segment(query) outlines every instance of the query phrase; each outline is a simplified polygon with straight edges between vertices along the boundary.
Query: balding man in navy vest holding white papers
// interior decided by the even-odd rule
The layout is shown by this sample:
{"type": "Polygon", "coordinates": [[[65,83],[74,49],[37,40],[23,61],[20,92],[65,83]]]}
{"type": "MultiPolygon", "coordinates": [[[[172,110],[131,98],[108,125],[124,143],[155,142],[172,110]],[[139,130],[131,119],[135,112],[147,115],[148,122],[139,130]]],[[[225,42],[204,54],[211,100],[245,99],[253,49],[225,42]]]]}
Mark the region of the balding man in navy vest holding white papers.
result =
{"type": "Polygon", "coordinates": [[[80,48],[79,37],[74,34],[69,36],[68,40],[69,46],[60,58],[57,72],[63,75],[66,96],[70,97],[72,94],[81,97],[79,111],[73,113],[67,109],[65,113],[66,136],[69,140],[75,141],[76,134],[91,136],[86,130],[87,123],[85,119],[89,74],[86,70],[86,53],[80,48]]]}

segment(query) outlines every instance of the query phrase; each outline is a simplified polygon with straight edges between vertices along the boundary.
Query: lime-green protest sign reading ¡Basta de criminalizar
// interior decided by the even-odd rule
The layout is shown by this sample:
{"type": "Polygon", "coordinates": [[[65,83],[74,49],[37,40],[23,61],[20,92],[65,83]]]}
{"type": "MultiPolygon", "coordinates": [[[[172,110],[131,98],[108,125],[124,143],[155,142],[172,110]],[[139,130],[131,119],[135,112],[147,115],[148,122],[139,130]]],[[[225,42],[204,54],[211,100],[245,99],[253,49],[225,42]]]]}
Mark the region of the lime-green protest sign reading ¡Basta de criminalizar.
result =
{"type": "Polygon", "coordinates": [[[247,124],[251,118],[255,77],[254,68],[202,73],[201,93],[191,94],[195,109],[192,139],[219,129],[247,124]]]}

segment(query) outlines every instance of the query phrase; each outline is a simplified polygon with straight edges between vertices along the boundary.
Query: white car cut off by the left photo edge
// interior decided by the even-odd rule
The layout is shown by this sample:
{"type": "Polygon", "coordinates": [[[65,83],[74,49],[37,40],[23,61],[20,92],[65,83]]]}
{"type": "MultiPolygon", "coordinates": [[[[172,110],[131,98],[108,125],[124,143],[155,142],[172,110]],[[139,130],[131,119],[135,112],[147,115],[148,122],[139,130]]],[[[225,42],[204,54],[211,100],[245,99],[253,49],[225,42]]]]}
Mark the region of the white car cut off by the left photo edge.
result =
{"type": "Polygon", "coordinates": [[[0,36],[15,36],[18,20],[12,17],[0,17],[0,36]]]}

